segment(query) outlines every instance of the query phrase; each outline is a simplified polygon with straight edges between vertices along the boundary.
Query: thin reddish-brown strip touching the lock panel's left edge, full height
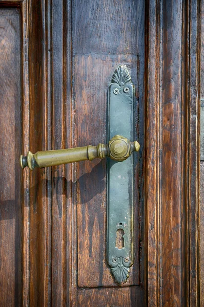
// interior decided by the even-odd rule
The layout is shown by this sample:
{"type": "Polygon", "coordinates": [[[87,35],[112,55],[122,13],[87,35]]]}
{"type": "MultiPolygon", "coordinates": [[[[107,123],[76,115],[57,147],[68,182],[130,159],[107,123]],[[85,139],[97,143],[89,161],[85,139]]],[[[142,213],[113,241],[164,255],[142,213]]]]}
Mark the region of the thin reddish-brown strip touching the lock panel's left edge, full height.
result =
{"type": "MultiPolygon", "coordinates": [[[[73,128],[72,128],[72,2],[64,0],[63,2],[63,85],[64,85],[64,122],[65,122],[65,133],[64,133],[64,146],[65,148],[73,147],[73,128]]],[[[72,304],[72,293],[74,278],[74,261],[73,261],[73,246],[75,243],[74,236],[74,202],[73,198],[73,182],[72,182],[73,166],[65,166],[65,177],[66,177],[66,221],[64,230],[64,249],[66,251],[66,258],[64,261],[65,271],[63,279],[64,301],[67,306],[72,304]],[[66,268],[66,269],[65,269],[66,268]]]]}

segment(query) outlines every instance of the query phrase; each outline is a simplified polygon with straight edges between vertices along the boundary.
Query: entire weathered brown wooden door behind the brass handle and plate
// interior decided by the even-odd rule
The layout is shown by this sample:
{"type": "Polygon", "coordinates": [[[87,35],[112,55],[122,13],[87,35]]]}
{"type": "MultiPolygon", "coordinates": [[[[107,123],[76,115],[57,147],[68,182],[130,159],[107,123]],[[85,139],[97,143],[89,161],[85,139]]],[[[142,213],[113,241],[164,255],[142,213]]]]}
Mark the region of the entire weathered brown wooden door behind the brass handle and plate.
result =
{"type": "Polygon", "coordinates": [[[200,306],[201,1],[0,0],[0,305],[200,306]],[[21,170],[107,140],[117,65],[135,84],[135,254],[106,261],[106,161],[21,170]]]}

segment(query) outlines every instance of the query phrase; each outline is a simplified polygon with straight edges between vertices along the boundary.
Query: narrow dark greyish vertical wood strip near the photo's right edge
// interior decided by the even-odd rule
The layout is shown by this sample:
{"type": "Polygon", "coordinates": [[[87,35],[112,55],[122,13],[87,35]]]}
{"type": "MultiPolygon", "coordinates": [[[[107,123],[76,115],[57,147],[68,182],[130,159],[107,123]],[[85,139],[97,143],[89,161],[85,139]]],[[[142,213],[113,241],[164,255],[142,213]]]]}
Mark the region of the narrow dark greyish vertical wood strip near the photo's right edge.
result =
{"type": "Polygon", "coordinates": [[[190,305],[200,305],[199,273],[199,117],[200,117],[200,4],[190,3],[189,41],[189,237],[190,305]]]}

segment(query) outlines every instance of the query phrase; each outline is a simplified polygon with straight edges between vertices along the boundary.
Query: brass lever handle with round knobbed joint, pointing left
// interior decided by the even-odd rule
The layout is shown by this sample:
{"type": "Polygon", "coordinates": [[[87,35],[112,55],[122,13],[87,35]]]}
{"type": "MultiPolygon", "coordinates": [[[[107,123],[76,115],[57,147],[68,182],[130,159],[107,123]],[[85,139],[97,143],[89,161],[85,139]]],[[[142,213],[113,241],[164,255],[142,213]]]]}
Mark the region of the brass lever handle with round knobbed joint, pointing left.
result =
{"type": "Polygon", "coordinates": [[[110,157],[115,161],[124,161],[132,153],[139,150],[137,141],[130,142],[123,136],[114,136],[108,144],[98,144],[97,146],[84,146],[70,149],[37,151],[33,154],[28,151],[27,156],[21,155],[21,167],[28,166],[30,170],[34,167],[48,167],[72,162],[93,160],[95,158],[104,159],[110,157]]]}

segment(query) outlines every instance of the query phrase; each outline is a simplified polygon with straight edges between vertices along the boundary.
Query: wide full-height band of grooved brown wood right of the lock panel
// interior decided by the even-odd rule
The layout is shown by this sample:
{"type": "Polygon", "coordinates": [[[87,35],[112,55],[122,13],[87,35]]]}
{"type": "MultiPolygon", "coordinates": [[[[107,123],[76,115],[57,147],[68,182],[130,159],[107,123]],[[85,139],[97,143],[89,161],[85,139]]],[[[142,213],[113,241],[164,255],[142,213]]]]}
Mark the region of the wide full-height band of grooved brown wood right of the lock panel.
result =
{"type": "Polygon", "coordinates": [[[148,10],[146,214],[150,306],[200,303],[199,9],[196,2],[150,1],[148,10]]]}

